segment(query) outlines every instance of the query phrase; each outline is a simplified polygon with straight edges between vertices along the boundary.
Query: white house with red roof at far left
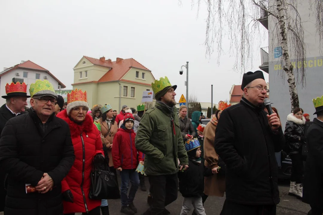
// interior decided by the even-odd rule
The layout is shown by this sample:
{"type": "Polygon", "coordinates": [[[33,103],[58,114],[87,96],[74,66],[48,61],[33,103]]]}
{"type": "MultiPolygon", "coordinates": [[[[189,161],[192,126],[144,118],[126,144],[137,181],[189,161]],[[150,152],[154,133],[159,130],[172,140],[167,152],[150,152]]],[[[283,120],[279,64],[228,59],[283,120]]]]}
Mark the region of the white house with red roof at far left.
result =
{"type": "MultiPolygon", "coordinates": [[[[1,96],[5,95],[5,85],[11,83],[15,79],[23,79],[27,85],[27,95],[29,95],[29,86],[35,83],[37,79],[47,79],[53,84],[55,90],[60,90],[66,86],[59,81],[51,72],[44,67],[35,64],[32,61],[21,61],[12,67],[3,68],[0,72],[0,104],[5,103],[5,99],[1,96]]],[[[27,99],[28,106],[30,106],[29,98],[27,99]]]]}

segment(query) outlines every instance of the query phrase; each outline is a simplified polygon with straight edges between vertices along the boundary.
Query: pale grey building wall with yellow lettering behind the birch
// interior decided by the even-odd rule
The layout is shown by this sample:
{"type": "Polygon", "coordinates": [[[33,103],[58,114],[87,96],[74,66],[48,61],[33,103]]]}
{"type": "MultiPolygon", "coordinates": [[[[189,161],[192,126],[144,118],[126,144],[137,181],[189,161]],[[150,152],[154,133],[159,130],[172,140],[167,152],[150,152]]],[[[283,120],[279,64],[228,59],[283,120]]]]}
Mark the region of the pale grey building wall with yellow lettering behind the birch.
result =
{"type": "MultiPolygon", "coordinates": [[[[312,99],[323,95],[321,89],[323,83],[323,65],[322,54],[319,53],[319,37],[316,33],[315,27],[315,13],[309,9],[310,5],[308,1],[297,1],[297,10],[303,22],[303,28],[305,33],[305,43],[307,48],[307,61],[295,62],[295,58],[290,50],[291,62],[295,66],[306,67],[306,85],[302,87],[301,84],[297,84],[297,93],[299,97],[299,105],[304,112],[310,114],[311,120],[313,120],[313,113],[315,112],[312,99]]],[[[276,5],[276,1],[269,0],[269,5],[276,5]]],[[[275,7],[276,8],[276,7],[275,7]]],[[[288,90],[287,76],[282,71],[281,57],[275,58],[274,49],[279,47],[277,32],[275,25],[277,23],[276,18],[268,18],[268,35],[269,35],[269,83],[270,83],[270,100],[273,103],[273,107],[276,107],[281,117],[283,129],[285,129],[286,117],[291,112],[290,95],[288,90]],[[282,74],[283,77],[282,78],[282,74]]],[[[289,44],[294,41],[288,41],[289,44]]],[[[322,41],[323,44],[323,41],[322,41]]],[[[291,47],[289,45],[289,47],[291,47]]],[[[321,47],[322,48],[322,47],[321,47]]],[[[297,80],[297,76],[296,76],[297,80]]]]}

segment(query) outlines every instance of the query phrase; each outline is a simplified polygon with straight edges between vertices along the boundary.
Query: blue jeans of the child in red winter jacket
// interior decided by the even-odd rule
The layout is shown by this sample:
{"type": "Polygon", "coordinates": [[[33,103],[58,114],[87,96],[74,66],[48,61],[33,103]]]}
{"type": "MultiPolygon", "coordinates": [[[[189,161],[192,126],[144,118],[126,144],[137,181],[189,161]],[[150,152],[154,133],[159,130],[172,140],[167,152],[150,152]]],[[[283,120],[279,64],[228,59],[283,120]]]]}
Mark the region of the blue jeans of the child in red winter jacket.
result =
{"type": "Polygon", "coordinates": [[[136,169],[125,170],[122,169],[121,175],[121,206],[129,205],[133,202],[136,192],[139,188],[139,175],[136,169]],[[129,196],[127,195],[129,189],[129,181],[131,182],[131,187],[129,191],[129,196]]]}

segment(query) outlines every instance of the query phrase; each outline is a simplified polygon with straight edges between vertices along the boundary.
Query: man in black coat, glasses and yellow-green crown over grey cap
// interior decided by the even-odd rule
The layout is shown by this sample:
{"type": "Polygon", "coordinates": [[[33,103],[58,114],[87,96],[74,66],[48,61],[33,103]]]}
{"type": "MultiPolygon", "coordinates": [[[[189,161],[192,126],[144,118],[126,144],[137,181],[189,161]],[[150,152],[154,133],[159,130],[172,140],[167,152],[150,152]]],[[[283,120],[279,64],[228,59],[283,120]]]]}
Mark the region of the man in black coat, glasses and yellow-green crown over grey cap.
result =
{"type": "Polygon", "coordinates": [[[30,112],[11,118],[1,134],[0,165],[8,173],[6,215],[63,214],[61,181],[73,165],[74,149],[68,124],[55,116],[53,86],[37,82],[30,86],[30,112]]]}

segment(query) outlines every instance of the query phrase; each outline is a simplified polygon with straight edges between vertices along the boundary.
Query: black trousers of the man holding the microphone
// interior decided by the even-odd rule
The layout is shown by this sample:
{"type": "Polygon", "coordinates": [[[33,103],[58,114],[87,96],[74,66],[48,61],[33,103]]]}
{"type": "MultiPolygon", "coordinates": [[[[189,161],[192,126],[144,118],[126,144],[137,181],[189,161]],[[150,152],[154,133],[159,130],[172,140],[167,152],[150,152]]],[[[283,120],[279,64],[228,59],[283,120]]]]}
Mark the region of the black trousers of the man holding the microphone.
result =
{"type": "Polygon", "coordinates": [[[276,205],[242,205],[225,200],[220,215],[276,215],[276,205]]]}

